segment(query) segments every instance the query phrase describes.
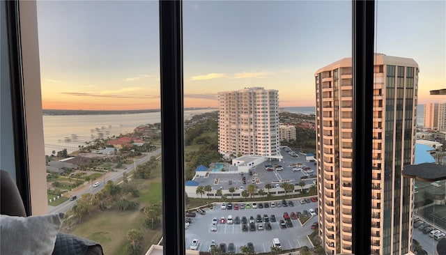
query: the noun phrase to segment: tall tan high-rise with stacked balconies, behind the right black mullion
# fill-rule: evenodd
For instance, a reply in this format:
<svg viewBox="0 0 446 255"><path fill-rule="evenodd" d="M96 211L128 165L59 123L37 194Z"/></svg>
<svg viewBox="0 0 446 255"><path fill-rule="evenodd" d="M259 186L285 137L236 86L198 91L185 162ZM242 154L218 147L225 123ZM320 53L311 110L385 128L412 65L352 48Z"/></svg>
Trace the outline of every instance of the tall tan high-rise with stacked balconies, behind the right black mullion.
<svg viewBox="0 0 446 255"><path fill-rule="evenodd" d="M316 77L319 235L330 254L352 249L352 60L321 68ZM413 164L418 65L413 59L375 55L371 171L371 254L408 254L413 236ZM354 185L354 184L353 184ZM367 231L367 230L364 230Z"/></svg>

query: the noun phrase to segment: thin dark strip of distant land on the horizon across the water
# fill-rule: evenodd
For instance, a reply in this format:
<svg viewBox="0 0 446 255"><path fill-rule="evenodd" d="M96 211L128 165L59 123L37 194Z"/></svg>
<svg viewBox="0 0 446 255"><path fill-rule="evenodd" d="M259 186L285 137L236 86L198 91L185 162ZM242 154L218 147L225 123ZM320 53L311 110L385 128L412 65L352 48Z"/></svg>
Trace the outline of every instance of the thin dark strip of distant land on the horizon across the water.
<svg viewBox="0 0 446 255"><path fill-rule="evenodd" d="M210 109L209 107L189 107L187 110ZM99 114L145 114L148 112L159 112L160 109L140 109L140 110L61 110L43 109L43 115L99 115Z"/></svg>

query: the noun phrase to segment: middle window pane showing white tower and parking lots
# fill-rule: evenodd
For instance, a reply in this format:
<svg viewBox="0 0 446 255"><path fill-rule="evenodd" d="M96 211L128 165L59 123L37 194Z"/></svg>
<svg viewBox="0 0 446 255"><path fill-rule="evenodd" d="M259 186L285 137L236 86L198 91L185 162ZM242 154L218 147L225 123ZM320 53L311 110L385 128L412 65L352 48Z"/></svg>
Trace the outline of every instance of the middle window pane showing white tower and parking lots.
<svg viewBox="0 0 446 255"><path fill-rule="evenodd" d="M209 109L185 121L186 249L351 251L351 2L185 1L183 38L185 107Z"/></svg>

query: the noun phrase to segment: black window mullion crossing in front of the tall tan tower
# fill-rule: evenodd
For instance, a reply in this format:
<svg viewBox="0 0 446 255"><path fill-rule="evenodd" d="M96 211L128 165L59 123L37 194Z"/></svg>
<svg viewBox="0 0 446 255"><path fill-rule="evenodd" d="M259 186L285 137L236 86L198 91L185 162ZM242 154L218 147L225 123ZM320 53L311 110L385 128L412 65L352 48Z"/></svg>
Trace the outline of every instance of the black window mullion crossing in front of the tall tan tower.
<svg viewBox="0 0 446 255"><path fill-rule="evenodd" d="M374 6L353 1L353 254L371 254Z"/></svg>

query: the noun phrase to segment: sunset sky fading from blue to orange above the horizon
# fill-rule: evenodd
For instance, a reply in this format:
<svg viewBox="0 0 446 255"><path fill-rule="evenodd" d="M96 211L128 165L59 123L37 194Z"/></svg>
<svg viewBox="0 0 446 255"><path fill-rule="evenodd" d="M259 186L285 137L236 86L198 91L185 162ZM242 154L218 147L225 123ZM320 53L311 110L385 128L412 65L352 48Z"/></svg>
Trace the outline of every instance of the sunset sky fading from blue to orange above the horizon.
<svg viewBox="0 0 446 255"><path fill-rule="evenodd" d="M37 1L43 109L159 109L157 1ZM446 88L446 1L377 1L376 52L420 66L418 102ZM219 91L314 106L314 72L351 56L351 1L183 1L185 107Z"/></svg>

